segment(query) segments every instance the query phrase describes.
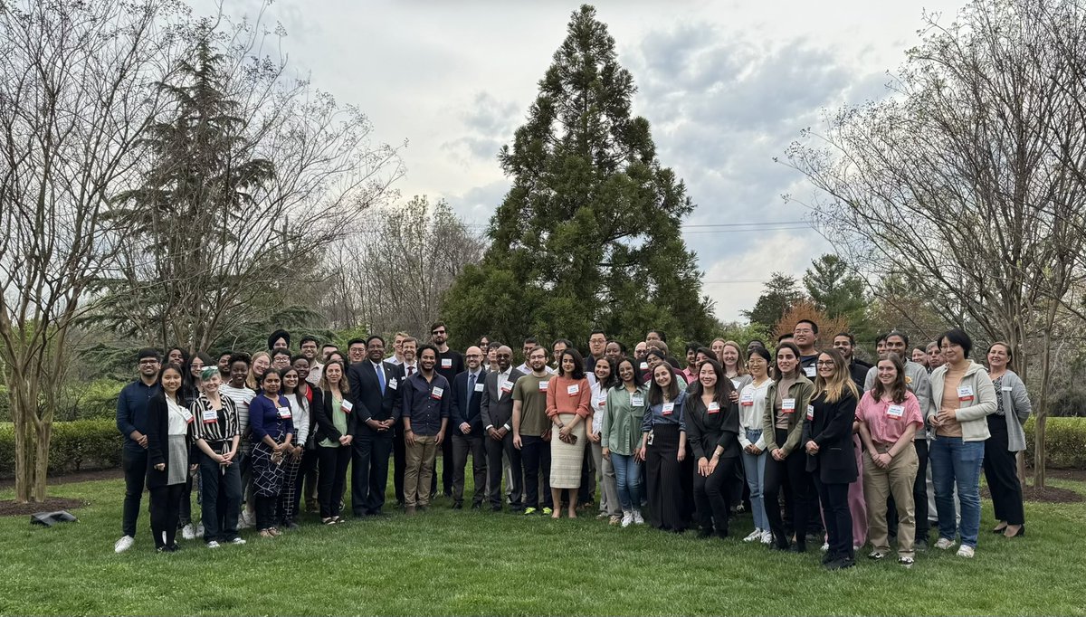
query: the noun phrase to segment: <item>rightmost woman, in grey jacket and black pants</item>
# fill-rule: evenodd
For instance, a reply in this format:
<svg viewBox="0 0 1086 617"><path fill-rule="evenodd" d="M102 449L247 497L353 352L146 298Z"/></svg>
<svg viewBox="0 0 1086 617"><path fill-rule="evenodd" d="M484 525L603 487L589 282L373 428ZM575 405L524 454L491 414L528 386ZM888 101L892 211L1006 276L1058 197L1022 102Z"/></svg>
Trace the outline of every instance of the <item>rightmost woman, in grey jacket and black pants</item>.
<svg viewBox="0 0 1086 617"><path fill-rule="evenodd" d="M996 392L996 413L988 416L984 442L984 478L992 491L992 505L998 521L993 533L1007 538L1025 534L1022 484L1018 478L1016 453L1025 450L1022 425L1033 410L1022 379L1011 370L1011 347L1005 342L988 348L988 377Z"/></svg>

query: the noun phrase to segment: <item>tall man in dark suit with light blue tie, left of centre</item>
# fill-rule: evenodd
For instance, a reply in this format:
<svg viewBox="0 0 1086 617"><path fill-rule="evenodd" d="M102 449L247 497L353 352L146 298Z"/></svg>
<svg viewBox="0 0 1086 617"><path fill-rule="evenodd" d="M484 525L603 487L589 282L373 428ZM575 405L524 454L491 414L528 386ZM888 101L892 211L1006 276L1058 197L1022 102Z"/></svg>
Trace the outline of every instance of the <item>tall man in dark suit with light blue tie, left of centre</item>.
<svg viewBox="0 0 1086 617"><path fill-rule="evenodd" d="M357 426L351 465L351 511L355 516L381 514L389 481L389 454L400 411L392 405L396 368L383 358L384 339L371 336L366 339L366 360L352 364L346 374Z"/></svg>

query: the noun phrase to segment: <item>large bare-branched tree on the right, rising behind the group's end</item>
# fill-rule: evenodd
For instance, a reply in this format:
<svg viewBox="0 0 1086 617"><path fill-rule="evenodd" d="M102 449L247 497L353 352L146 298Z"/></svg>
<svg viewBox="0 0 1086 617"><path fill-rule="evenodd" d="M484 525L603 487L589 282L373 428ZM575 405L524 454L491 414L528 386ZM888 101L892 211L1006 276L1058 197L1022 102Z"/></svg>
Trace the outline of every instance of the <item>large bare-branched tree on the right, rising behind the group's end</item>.
<svg viewBox="0 0 1086 617"><path fill-rule="evenodd" d="M976 324L1019 358L1039 343L1038 486L1052 324L1083 279L1084 32L1066 0L977 0L949 25L927 15L887 99L787 152L849 261L905 274L949 323Z"/></svg>

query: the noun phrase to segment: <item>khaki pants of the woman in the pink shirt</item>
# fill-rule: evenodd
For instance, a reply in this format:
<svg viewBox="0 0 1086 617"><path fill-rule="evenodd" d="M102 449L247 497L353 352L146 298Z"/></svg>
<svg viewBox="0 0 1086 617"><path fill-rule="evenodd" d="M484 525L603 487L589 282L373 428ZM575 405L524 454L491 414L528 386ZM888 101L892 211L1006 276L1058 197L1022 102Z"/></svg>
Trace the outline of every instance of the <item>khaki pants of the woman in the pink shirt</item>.
<svg viewBox="0 0 1086 617"><path fill-rule="evenodd" d="M877 445L879 452L886 452L892 444ZM868 540L880 553L889 552L886 531L886 498L894 495L897 505L897 554L912 557L913 541L917 536L917 520L913 517L912 483L917 479L917 449L905 448L891 459L889 466L880 469L870 453L863 453L863 496L868 504Z"/></svg>

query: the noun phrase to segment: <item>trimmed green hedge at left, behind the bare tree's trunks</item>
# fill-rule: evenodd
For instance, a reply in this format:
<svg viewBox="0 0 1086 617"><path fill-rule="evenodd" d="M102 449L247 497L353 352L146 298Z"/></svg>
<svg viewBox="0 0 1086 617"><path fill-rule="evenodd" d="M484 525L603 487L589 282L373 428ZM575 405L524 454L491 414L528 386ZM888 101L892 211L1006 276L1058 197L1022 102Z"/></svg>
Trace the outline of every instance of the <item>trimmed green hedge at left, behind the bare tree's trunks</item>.
<svg viewBox="0 0 1086 617"><path fill-rule="evenodd" d="M113 419L53 423L49 448L49 475L121 467L124 440ZM15 432L11 424L0 425L0 477L15 475Z"/></svg>

